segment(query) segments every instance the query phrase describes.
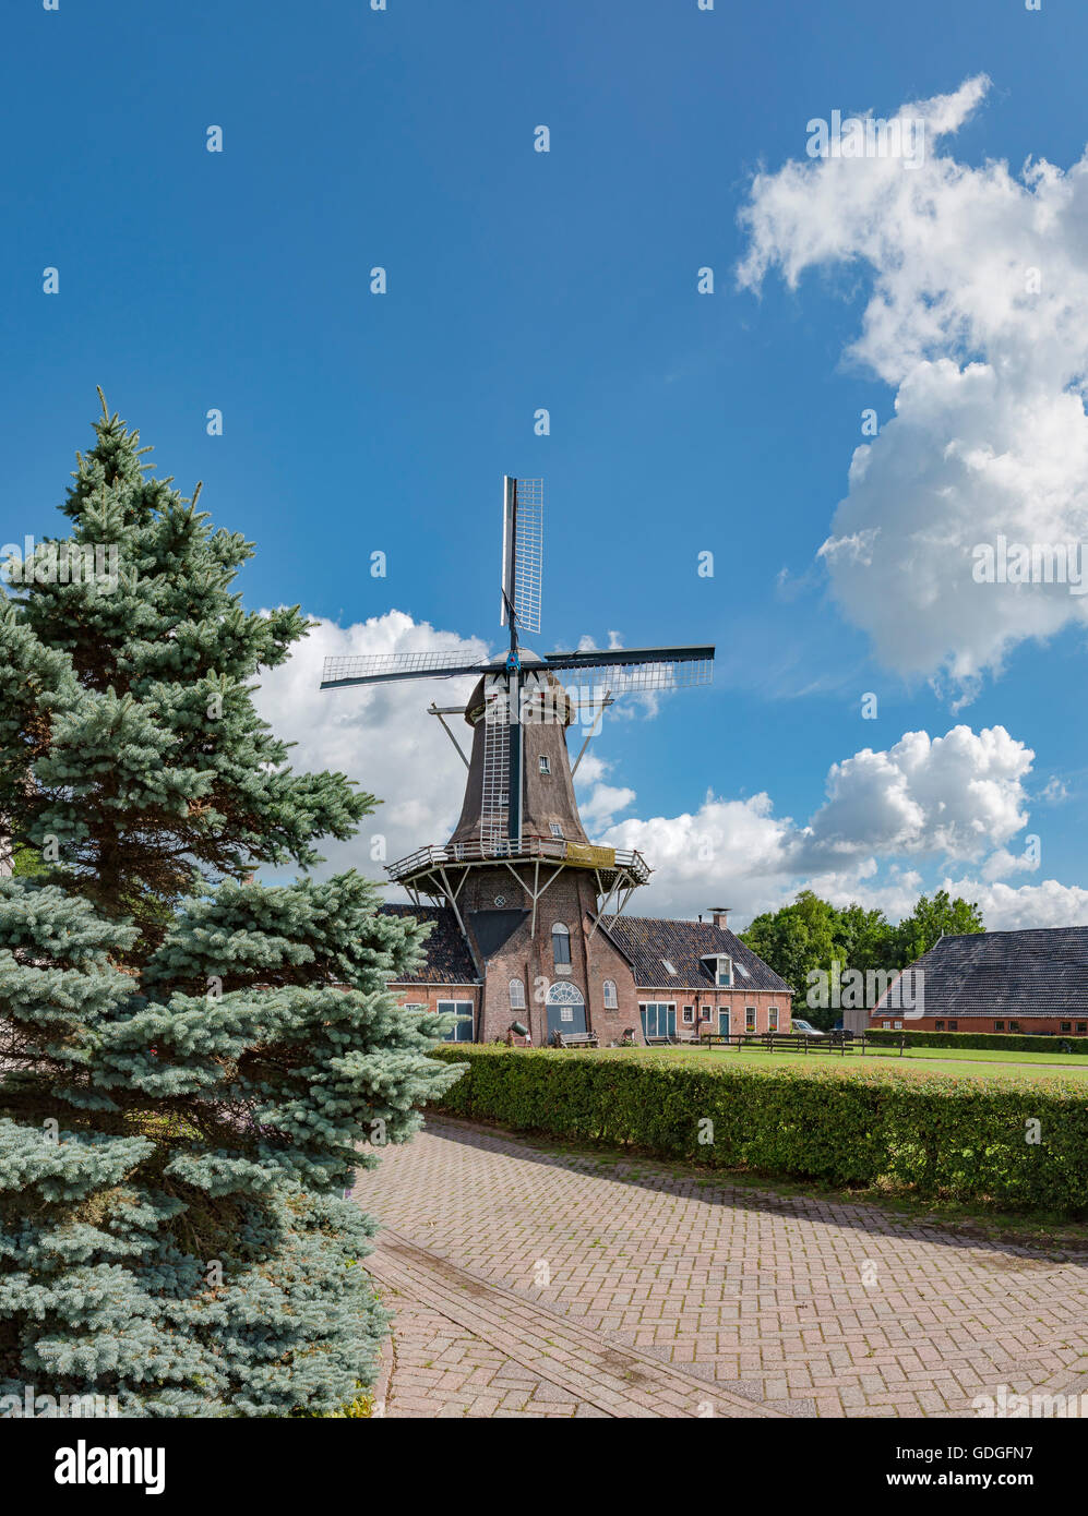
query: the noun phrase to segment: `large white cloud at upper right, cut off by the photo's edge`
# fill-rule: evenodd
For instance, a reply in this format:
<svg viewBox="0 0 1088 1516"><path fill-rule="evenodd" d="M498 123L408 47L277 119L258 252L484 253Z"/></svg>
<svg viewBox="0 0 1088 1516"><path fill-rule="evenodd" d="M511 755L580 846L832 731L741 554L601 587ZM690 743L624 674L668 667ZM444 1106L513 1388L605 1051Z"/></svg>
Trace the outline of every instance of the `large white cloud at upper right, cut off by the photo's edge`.
<svg viewBox="0 0 1088 1516"><path fill-rule="evenodd" d="M819 158L760 173L742 211L742 287L771 270L865 268L847 356L895 390L854 452L821 549L882 662L961 700L1027 638L1088 619L1067 584L976 584L973 549L1088 538L1088 152L1068 170L971 168L944 150L989 88L904 105L926 156ZM874 397L874 405L877 400ZM860 418L859 418L860 426Z"/></svg>

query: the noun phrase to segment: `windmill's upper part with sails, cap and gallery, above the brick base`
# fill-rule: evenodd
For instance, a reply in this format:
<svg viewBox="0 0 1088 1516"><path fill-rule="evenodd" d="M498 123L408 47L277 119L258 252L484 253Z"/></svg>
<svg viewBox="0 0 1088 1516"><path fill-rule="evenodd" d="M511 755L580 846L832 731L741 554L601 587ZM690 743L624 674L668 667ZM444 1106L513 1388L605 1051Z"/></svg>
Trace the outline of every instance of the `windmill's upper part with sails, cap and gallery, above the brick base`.
<svg viewBox="0 0 1088 1516"><path fill-rule="evenodd" d="M467 661L463 653L373 653L328 658L322 690L401 682L404 679L452 679L476 675L467 706L429 706L443 717L463 713L473 729L472 756L446 732L469 770L461 820L443 847L423 847L388 866L387 872L408 891L445 897L457 910L464 870L481 864L510 867L531 863L531 881L522 885L536 902L551 878L540 885L540 864L596 870L599 894L612 901L618 890L643 884L649 876L637 852L593 847L581 826L566 749L566 728L587 706L598 714L575 763L592 737L599 713L616 696L633 691L675 690L709 684L713 647L622 647L607 650L531 652L522 635L540 631L543 578L543 481L502 481L502 568L499 625L508 628L508 647L496 658ZM590 681L586 691L584 681ZM577 687L572 694L571 682ZM589 693L589 700L584 696ZM542 749L539 769L527 773L527 732ZM545 784L543 781L554 781ZM460 875L460 882L455 881ZM517 873L514 875L517 878ZM621 905L622 908L622 905ZM596 919L604 914L604 907ZM460 919L460 911L458 911Z"/></svg>

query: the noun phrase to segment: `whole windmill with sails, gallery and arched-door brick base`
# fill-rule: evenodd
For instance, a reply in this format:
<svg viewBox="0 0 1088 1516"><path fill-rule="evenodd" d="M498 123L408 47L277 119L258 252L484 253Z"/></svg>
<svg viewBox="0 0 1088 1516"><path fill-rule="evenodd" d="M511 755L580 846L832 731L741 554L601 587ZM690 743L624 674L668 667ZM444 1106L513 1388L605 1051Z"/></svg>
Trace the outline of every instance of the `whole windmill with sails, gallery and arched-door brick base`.
<svg viewBox="0 0 1088 1516"><path fill-rule="evenodd" d="M413 902L452 911L481 991L473 1008L480 1041L502 1035L511 1017L534 1043L557 1031L619 1035L634 1025L630 963L601 931L649 878L639 852L596 847L586 835L574 775L605 706L640 690L709 684L713 647L637 647L540 656L522 634L540 631L543 484L502 482L502 599L508 649L487 662L457 653L378 653L329 658L323 690L402 679L480 676L466 706L436 706L467 769L460 820L446 843L387 866ZM446 716L464 716L464 753ZM592 720L586 720L592 716ZM568 728L587 726L571 764Z"/></svg>

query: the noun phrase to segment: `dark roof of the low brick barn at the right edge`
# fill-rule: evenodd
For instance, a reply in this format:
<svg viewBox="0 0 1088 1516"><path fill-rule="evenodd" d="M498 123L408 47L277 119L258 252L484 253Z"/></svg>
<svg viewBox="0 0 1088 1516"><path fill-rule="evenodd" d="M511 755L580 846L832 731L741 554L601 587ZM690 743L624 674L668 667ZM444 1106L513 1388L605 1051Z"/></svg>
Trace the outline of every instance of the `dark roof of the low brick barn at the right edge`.
<svg viewBox="0 0 1088 1516"><path fill-rule="evenodd" d="M942 937L912 969L926 1016L1088 1014L1088 926Z"/></svg>

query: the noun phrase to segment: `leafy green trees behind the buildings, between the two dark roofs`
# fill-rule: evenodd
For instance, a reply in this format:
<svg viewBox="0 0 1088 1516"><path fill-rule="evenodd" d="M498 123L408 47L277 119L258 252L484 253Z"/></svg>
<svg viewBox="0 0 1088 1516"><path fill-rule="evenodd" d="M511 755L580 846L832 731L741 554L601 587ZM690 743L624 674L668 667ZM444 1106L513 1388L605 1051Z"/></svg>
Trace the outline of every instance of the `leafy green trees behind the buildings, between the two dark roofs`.
<svg viewBox="0 0 1088 1516"><path fill-rule="evenodd" d="M839 1011L806 1005L813 970L830 975L833 963L862 973L906 969L942 934L980 931L985 928L979 907L953 901L947 890L938 890L933 899L920 896L913 911L897 925L883 911L866 911L856 904L839 910L812 890L801 890L792 905L757 916L741 940L789 984L794 1014L829 1028Z"/></svg>

